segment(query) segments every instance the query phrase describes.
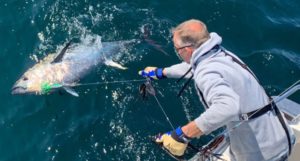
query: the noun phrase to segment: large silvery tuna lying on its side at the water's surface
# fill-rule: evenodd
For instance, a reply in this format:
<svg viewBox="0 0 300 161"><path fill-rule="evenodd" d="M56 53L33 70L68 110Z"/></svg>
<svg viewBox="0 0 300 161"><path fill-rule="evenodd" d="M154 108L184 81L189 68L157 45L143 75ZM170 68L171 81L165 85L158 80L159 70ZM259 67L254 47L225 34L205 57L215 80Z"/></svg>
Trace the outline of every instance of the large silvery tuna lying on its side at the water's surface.
<svg viewBox="0 0 300 161"><path fill-rule="evenodd" d="M126 69L111 58L124 52L132 42L134 41L101 42L100 37L96 37L81 43L66 43L59 53L47 55L28 69L12 87L12 94L44 94L43 86L46 85L64 88L68 93L78 96L70 86L62 85L75 84L100 64Z"/></svg>

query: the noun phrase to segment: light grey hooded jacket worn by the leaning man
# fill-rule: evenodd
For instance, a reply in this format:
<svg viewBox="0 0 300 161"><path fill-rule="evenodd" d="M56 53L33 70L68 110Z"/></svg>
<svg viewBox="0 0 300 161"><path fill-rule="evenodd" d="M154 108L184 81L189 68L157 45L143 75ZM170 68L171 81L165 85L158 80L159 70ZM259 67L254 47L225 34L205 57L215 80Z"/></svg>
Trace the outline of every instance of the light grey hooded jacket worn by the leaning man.
<svg viewBox="0 0 300 161"><path fill-rule="evenodd" d="M221 42L219 35L210 33L210 39L194 51L191 64L180 63L165 68L168 78L178 78L192 67L196 88L202 92L208 105L206 111L195 119L204 134L224 125L231 129L240 123L240 114L261 108L269 100L254 76L231 57L225 56L223 50L209 52ZM226 52L240 60L233 53ZM273 111L231 130L229 138L232 160L277 160L288 153L287 136Z"/></svg>

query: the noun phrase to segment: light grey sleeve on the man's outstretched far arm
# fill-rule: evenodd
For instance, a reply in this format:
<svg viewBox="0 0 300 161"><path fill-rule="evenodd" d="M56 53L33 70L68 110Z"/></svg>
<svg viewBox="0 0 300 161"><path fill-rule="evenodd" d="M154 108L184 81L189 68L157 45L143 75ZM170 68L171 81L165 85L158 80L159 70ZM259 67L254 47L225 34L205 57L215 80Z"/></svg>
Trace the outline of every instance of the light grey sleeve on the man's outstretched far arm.
<svg viewBox="0 0 300 161"><path fill-rule="evenodd" d="M172 65L170 67L166 67L166 77L167 78L180 78L183 76L189 69L190 65L188 63L182 62L179 64ZM185 78L189 78L191 73L187 74Z"/></svg>

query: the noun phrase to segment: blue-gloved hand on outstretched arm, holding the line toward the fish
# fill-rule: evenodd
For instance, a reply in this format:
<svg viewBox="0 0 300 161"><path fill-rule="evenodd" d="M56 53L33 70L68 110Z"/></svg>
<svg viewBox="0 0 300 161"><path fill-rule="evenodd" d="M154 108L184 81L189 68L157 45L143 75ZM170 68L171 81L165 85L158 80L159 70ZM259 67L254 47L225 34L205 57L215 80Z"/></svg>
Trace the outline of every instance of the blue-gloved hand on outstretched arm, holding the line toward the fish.
<svg viewBox="0 0 300 161"><path fill-rule="evenodd" d="M166 78L163 69L157 67L146 67L144 70L139 71L139 75L156 80Z"/></svg>

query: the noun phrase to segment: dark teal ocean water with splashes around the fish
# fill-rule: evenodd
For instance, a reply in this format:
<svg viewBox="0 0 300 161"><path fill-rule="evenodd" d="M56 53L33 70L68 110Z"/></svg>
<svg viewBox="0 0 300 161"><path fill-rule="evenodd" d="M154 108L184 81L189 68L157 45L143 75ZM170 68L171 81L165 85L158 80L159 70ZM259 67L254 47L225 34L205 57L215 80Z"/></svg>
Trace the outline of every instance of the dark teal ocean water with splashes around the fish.
<svg viewBox="0 0 300 161"><path fill-rule="evenodd" d="M139 83L76 88L79 98L15 96L11 87L36 60L87 36L139 43L113 56L128 70L99 66L81 82L140 79L147 65L179 62L170 29L196 18L276 95L300 78L299 8L296 0L0 0L0 161L172 160L150 140L171 128L152 97L141 99ZM143 41L145 34L168 54ZM182 84L154 85L175 126L203 111L192 86L176 98ZM300 102L300 94L291 99Z"/></svg>

